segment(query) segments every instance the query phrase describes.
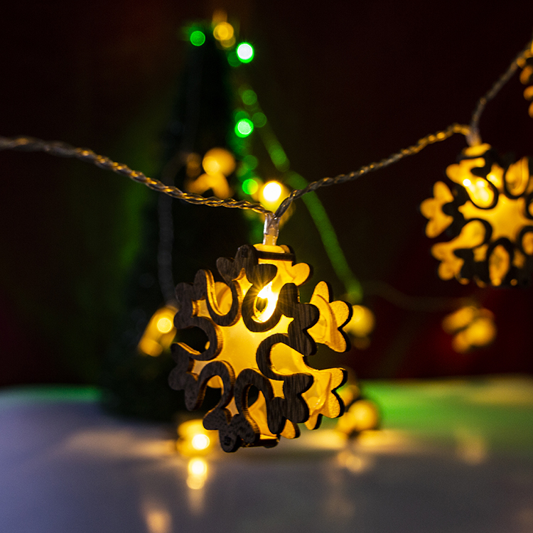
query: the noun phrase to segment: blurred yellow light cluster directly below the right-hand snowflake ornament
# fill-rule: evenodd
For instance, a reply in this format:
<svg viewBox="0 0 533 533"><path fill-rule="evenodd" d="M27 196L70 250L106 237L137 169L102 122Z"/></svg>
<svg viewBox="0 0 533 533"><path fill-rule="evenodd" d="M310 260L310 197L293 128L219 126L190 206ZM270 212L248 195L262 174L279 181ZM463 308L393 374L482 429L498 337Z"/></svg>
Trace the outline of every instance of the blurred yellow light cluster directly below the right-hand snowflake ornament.
<svg viewBox="0 0 533 533"><path fill-rule="evenodd" d="M494 315L475 306L465 306L446 316L442 327L453 335L452 348L459 353L492 343L497 333Z"/></svg>

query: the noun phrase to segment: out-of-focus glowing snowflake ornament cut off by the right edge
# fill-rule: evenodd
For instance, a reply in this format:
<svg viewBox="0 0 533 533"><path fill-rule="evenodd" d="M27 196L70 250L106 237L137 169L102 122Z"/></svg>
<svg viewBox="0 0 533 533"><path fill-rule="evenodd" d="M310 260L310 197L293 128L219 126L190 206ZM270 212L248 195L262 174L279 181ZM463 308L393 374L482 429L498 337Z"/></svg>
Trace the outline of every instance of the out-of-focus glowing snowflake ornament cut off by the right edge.
<svg viewBox="0 0 533 533"><path fill-rule="evenodd" d="M500 158L488 144L463 150L446 175L457 185L434 185L421 203L428 237L448 230L451 240L431 253L441 279L479 286L527 284L533 271L533 164Z"/></svg>

